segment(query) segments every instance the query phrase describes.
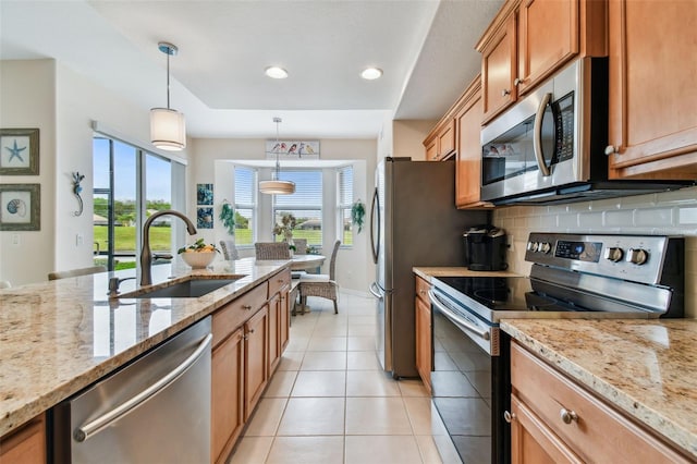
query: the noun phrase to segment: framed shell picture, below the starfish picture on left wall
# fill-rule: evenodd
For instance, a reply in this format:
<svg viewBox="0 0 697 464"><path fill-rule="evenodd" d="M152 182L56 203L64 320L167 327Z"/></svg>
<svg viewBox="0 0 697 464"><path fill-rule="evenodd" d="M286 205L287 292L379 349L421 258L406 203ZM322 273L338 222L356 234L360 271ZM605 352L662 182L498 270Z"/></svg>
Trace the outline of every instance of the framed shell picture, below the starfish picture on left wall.
<svg viewBox="0 0 697 464"><path fill-rule="evenodd" d="M40 192L40 184L0 184L0 231L41 230Z"/></svg>

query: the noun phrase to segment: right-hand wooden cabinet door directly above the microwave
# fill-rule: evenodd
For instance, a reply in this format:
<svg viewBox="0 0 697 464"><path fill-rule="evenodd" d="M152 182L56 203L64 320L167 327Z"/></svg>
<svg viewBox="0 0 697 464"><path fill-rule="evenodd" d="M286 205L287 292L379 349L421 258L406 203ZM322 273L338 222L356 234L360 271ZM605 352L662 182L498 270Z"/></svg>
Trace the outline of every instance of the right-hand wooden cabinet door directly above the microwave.
<svg viewBox="0 0 697 464"><path fill-rule="evenodd" d="M517 46L519 95L578 53L578 0L524 0Z"/></svg>

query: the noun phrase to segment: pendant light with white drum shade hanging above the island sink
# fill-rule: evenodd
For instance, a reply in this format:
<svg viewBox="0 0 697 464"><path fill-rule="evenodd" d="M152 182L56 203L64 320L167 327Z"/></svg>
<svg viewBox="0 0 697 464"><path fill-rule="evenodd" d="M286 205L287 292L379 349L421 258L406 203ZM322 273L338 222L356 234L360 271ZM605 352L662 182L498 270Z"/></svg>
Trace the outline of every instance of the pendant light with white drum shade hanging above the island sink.
<svg viewBox="0 0 697 464"><path fill-rule="evenodd" d="M167 108L150 110L150 141L162 150L179 151L186 148L186 121L183 113L170 108L170 57L179 49L166 41L159 42L157 48L167 54Z"/></svg>

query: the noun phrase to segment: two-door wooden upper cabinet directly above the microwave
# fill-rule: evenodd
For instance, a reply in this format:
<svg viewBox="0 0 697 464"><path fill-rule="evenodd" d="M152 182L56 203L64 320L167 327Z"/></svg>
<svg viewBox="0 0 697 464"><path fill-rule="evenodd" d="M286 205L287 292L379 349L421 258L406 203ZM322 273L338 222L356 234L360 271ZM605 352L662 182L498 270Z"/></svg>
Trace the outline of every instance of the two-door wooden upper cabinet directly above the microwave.
<svg viewBox="0 0 697 464"><path fill-rule="evenodd" d="M576 56L607 56L603 0L506 2L477 44L486 123Z"/></svg>

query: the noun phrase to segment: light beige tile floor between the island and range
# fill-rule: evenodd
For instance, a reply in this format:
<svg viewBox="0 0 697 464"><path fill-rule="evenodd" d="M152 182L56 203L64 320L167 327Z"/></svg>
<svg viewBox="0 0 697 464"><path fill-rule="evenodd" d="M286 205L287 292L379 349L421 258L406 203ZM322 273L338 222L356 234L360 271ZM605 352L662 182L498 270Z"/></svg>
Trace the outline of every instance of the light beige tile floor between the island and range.
<svg viewBox="0 0 697 464"><path fill-rule="evenodd" d="M394 380L375 351L375 300L310 297L231 464L457 463L420 380ZM454 453L454 451L453 451Z"/></svg>

